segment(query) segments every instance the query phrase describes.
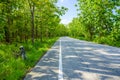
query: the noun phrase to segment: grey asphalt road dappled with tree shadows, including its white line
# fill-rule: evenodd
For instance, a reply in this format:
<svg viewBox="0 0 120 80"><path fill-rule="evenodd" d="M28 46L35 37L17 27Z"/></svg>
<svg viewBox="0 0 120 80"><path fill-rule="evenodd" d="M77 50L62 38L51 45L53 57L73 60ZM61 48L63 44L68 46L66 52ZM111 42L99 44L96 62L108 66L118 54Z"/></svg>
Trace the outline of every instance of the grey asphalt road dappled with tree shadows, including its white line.
<svg viewBox="0 0 120 80"><path fill-rule="evenodd" d="M24 80L120 80L120 48L61 37Z"/></svg>

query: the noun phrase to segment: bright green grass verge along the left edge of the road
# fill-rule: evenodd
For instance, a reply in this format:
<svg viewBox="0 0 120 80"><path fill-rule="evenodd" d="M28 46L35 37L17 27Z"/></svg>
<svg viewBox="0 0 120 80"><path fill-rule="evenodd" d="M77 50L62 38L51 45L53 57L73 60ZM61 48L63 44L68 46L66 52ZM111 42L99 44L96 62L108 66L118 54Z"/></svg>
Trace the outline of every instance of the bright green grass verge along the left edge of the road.
<svg viewBox="0 0 120 80"><path fill-rule="evenodd" d="M34 45L31 42L0 44L0 80L22 80L56 40L45 39L42 43L36 40ZM18 56L21 45L25 47L27 60Z"/></svg>

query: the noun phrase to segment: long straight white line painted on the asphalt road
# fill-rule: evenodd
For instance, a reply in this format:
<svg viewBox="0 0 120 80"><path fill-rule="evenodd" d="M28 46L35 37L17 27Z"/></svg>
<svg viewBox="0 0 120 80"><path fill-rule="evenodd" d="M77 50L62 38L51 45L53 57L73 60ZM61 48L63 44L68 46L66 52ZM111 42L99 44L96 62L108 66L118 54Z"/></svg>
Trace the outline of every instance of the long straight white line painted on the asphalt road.
<svg viewBox="0 0 120 80"><path fill-rule="evenodd" d="M59 75L58 75L58 80L63 80L61 40L60 40L60 51L59 51Z"/></svg>

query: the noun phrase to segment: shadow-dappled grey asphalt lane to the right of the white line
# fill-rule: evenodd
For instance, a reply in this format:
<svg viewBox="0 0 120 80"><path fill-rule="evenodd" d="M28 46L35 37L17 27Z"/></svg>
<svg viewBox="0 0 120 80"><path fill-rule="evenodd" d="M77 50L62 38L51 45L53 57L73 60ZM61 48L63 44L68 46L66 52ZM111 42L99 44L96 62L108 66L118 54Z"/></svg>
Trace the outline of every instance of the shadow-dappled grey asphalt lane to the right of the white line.
<svg viewBox="0 0 120 80"><path fill-rule="evenodd" d="M120 48L76 40L63 41L62 52L67 80L120 80Z"/></svg>

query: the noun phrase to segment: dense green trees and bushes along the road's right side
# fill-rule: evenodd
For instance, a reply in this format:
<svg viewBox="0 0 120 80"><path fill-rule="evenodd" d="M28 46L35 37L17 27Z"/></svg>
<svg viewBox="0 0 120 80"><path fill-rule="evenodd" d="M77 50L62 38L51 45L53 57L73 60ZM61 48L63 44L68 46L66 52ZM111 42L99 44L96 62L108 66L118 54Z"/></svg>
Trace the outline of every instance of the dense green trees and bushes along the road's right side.
<svg viewBox="0 0 120 80"><path fill-rule="evenodd" d="M120 0L78 0L69 36L120 47Z"/></svg>

